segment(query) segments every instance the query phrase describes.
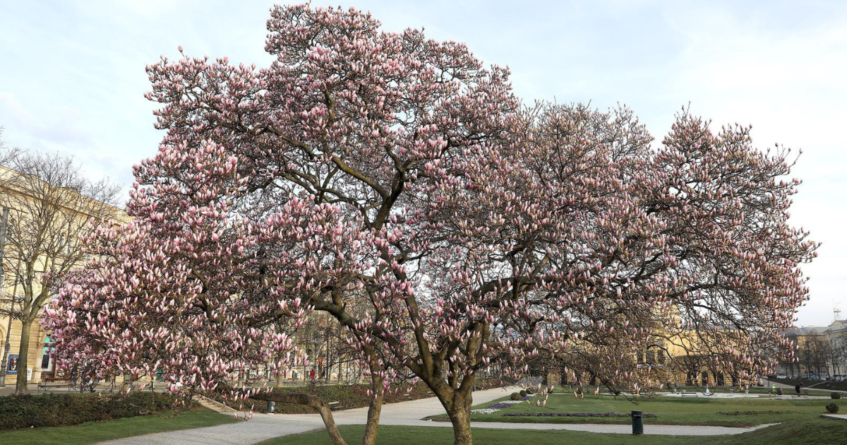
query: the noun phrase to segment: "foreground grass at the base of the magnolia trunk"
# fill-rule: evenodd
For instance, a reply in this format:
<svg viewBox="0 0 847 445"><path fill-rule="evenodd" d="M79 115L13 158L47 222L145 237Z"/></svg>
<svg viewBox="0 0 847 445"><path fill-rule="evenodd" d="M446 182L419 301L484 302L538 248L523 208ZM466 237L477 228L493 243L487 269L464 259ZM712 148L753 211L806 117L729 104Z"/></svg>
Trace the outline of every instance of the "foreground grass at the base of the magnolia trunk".
<svg viewBox="0 0 847 445"><path fill-rule="evenodd" d="M645 426L645 429L649 426ZM347 443L362 440L364 426L341 426ZM792 420L734 436L632 436L628 434L599 434L581 431L529 431L529 430L473 430L474 445L505 445L531 443L532 445L820 445L844 440L847 422L821 417ZM451 445L451 428L432 426L380 426L378 445ZM311 432L278 437L263 445L331 445L326 432Z"/></svg>

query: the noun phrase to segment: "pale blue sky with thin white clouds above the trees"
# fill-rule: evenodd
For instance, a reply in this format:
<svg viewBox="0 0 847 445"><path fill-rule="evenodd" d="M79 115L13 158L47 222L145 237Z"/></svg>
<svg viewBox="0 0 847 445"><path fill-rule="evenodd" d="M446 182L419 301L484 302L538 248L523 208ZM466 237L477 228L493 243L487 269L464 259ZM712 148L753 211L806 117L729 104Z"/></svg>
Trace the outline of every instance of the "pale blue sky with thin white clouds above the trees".
<svg viewBox="0 0 847 445"><path fill-rule="evenodd" d="M276 2L280 3L280 2ZM265 66L274 2L0 0L3 141L58 151L92 179L129 188L151 157L147 64L161 55L228 56ZM791 220L822 242L805 264L811 298L797 325L847 318L847 2L362 1L388 31L423 27L508 66L524 102L632 108L661 142L683 107L721 125L752 125L764 150L802 154Z"/></svg>

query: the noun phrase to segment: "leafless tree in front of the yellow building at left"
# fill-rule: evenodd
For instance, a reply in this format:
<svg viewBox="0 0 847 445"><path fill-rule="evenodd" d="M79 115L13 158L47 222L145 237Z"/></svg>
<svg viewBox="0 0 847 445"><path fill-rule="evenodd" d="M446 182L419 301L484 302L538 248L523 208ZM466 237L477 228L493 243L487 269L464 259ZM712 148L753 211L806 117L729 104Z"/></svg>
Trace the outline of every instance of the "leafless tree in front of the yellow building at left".
<svg viewBox="0 0 847 445"><path fill-rule="evenodd" d="M3 278L14 289L14 295L3 294L0 313L21 323L18 360L25 369L30 329L54 295L52 283L82 263L80 238L91 231L91 220L120 217L120 187L88 180L73 159L58 153L2 147L0 160L0 206L8 209ZM27 392L25 378L18 378L15 392Z"/></svg>

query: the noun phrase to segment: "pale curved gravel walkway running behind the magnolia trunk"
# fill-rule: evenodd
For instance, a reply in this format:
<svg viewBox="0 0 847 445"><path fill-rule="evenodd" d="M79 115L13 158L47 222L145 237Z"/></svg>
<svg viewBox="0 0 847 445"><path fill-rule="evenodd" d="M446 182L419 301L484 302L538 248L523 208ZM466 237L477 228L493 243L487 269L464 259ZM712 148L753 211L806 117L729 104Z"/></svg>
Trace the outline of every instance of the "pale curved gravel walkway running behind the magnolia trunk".
<svg viewBox="0 0 847 445"><path fill-rule="evenodd" d="M473 392L473 403L485 403L507 396L511 390L502 388ZM362 425L365 423L368 409L348 409L333 413L338 425ZM443 414L438 399L424 398L410 402L390 403L383 406L380 425L436 426L450 427L449 422L420 420L429 415ZM222 414L223 415L223 414ZM231 415L231 414L230 414ZM570 430L606 433L632 432L629 425L600 424L521 424L507 422L473 422L473 428L500 428L510 430ZM767 425L753 428L728 428L723 426L672 426L645 425L645 434L673 436L717 436L739 434L753 431ZM318 414L256 414L252 420L235 424L209 426L192 430L159 432L145 436L125 437L108 442L108 445L252 445L256 442L324 429L324 423Z"/></svg>

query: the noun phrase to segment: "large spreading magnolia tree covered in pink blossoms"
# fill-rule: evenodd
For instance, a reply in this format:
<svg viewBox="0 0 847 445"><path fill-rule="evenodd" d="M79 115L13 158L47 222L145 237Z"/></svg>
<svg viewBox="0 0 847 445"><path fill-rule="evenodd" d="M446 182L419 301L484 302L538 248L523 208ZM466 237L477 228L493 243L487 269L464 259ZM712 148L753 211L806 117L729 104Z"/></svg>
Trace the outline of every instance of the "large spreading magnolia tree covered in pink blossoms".
<svg viewBox="0 0 847 445"><path fill-rule="evenodd" d="M686 330L767 364L815 248L787 224L785 153L687 114L654 149L626 109L527 110L507 70L356 10L277 7L268 31L268 68L148 67L168 133L136 167L135 221L91 238L102 256L53 306L66 357L232 391L323 311L371 378L364 442L411 375L457 444L492 364L650 387L634 353Z"/></svg>

